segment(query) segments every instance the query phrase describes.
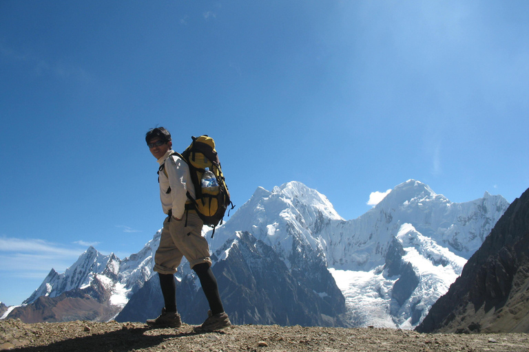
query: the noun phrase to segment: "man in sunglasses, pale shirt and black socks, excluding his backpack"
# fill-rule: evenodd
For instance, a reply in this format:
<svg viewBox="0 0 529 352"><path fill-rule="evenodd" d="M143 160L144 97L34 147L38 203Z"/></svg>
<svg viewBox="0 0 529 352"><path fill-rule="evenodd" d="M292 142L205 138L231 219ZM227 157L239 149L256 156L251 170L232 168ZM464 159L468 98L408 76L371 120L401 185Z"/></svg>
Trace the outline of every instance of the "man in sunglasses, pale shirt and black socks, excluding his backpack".
<svg viewBox="0 0 529 352"><path fill-rule="evenodd" d="M147 320L152 327L180 327L182 320L176 310L176 283L174 273L185 256L200 279L209 303L208 318L200 329L214 331L231 326L222 307L217 280L211 272L209 245L202 236L203 221L193 210L193 202L187 192L195 198L195 188L189 174L189 166L172 150L171 134L163 127L151 129L145 135L149 150L158 160L158 182L160 200L167 218L163 222L160 246L154 255L154 271L158 272L165 307L156 319ZM165 168L165 170L164 170Z"/></svg>

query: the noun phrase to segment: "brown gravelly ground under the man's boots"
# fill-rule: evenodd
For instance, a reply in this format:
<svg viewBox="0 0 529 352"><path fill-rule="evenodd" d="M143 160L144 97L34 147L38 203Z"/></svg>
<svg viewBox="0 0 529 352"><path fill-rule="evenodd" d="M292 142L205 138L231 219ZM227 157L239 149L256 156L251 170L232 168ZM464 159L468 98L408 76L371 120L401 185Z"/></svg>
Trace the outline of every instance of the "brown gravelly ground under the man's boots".
<svg viewBox="0 0 529 352"><path fill-rule="evenodd" d="M424 334L396 329L236 325L195 333L142 323L0 320L0 351L529 351L529 334Z"/></svg>

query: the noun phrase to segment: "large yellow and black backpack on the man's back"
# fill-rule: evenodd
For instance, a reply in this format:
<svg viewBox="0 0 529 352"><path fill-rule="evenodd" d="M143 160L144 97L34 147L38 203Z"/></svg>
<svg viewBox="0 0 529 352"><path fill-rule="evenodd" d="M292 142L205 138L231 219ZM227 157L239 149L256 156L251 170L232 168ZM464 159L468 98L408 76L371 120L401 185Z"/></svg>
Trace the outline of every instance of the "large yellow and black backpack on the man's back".
<svg viewBox="0 0 529 352"><path fill-rule="evenodd" d="M228 186L226 186L226 181L220 168L218 154L215 150L215 141L208 135L200 135L200 137L193 136L191 139L193 142L189 144L183 153L175 153L189 166L191 181L193 181L195 187L196 199L191 197L189 192L187 192L189 201L186 203L186 209L196 210L198 217L202 219L204 225L213 228L213 232L211 233L211 238L213 238L216 226L219 223L222 224L226 209L231 205L230 210L232 210L235 208L235 205L229 197ZM218 189L216 191L203 189L200 185L200 179L202 179L206 168L209 168L217 179ZM167 175L165 168L163 170L165 175ZM167 192L171 192L171 188Z"/></svg>

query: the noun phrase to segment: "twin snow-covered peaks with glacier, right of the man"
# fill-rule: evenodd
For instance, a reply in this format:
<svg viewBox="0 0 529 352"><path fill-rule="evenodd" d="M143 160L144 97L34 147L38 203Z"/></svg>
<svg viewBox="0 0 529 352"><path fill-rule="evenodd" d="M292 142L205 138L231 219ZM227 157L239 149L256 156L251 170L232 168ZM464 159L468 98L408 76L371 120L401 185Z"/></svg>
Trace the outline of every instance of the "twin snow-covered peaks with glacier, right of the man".
<svg viewBox="0 0 529 352"><path fill-rule="evenodd" d="M461 274L466 259L484 241L508 207L501 196L452 203L410 179L396 186L375 208L344 221L331 203L299 182L271 192L258 188L222 228L211 248L251 232L291 265L300 248L311 248L330 268L352 313L353 325L411 328ZM388 273L386 256L397 239L407 271ZM409 265L407 265L409 263ZM411 271L410 271L411 270ZM402 274L415 276L413 290L393 297ZM412 283L414 281L411 281Z"/></svg>

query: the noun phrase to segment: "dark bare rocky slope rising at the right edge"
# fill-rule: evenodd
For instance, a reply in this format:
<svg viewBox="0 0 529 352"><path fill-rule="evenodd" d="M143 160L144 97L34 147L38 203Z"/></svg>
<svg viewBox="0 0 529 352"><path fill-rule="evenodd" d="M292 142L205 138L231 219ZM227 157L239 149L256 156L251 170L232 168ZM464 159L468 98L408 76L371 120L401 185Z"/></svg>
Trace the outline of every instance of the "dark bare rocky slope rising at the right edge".
<svg viewBox="0 0 529 352"><path fill-rule="evenodd" d="M419 332L529 332L529 189L515 199Z"/></svg>

